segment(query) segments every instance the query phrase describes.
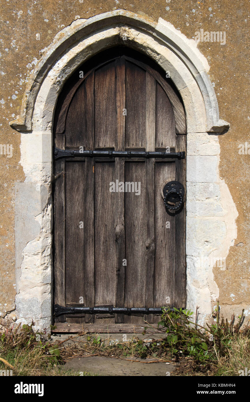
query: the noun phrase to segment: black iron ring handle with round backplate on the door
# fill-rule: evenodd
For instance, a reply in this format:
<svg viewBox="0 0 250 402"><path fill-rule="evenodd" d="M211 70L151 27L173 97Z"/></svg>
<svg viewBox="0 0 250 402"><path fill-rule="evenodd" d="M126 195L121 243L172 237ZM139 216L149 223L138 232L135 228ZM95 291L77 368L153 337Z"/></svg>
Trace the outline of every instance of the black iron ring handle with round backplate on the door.
<svg viewBox="0 0 250 402"><path fill-rule="evenodd" d="M183 205L184 187L179 181L170 181L163 188L164 204L169 211L179 211Z"/></svg>

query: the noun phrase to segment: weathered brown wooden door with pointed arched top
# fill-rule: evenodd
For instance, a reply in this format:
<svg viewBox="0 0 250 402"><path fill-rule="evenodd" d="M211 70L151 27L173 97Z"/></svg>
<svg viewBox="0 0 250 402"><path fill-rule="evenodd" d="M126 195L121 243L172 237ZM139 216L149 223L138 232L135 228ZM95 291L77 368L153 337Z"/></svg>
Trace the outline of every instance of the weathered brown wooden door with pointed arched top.
<svg viewBox="0 0 250 402"><path fill-rule="evenodd" d="M54 124L54 147L70 151L54 155L56 321L158 322L147 310L82 308L185 305L185 204L169 213L162 197L169 181L185 187L185 159L81 155L185 151L185 133L178 94L140 53L100 53L65 84Z"/></svg>

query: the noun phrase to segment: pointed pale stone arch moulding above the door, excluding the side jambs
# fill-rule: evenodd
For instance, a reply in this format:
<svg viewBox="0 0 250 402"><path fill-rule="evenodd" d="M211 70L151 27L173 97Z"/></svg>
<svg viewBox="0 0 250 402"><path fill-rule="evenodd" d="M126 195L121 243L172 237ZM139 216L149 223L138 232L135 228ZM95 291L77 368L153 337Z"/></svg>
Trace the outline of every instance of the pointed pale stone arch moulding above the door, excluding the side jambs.
<svg viewBox="0 0 250 402"><path fill-rule="evenodd" d="M46 103L53 104L65 78L81 64L80 60L87 60L100 49L121 41L143 51L169 71L183 98L188 131L222 132L229 127L219 118L217 99L207 75L209 66L195 41L187 39L162 18L155 23L126 10L99 14L87 20L78 19L56 35L30 77L21 115L10 122L11 127L17 131L32 130L35 105L45 82L47 86L51 85L44 102L46 110ZM57 76L54 81L53 76ZM189 110L190 104L192 111ZM44 115L43 119L47 120L47 127L51 114L48 113L47 119Z"/></svg>

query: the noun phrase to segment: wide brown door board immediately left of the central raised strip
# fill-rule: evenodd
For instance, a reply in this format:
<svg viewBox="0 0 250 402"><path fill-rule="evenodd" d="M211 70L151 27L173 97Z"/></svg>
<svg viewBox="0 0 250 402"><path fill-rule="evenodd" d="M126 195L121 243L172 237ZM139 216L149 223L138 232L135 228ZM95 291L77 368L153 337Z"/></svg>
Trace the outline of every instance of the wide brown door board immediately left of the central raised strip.
<svg viewBox="0 0 250 402"><path fill-rule="evenodd" d="M116 146L116 64L95 73L95 146ZM114 305L116 298L116 216L120 193L110 192L116 179L113 162L95 164L95 304ZM106 322L114 322L114 318Z"/></svg>

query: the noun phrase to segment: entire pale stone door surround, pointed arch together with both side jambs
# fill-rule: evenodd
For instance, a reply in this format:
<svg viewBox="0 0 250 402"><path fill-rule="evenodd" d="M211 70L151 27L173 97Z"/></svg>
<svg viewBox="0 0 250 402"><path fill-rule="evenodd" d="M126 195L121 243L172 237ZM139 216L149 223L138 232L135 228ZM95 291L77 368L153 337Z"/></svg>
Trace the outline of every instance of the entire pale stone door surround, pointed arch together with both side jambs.
<svg viewBox="0 0 250 402"><path fill-rule="evenodd" d="M226 258L236 238L238 213L218 174L217 134L228 130L229 123L219 118L207 74L209 66L195 41L162 18L155 23L126 10L78 19L60 31L45 49L27 85L20 117L10 121L11 127L21 133L20 163L26 175L25 182L18 185L17 198L20 194L27 197L27 191L35 197L35 206L31 203L26 208L28 219L32 219L25 242L16 242L17 316L22 322L33 318L40 329L51 322L55 106L63 84L78 66L101 50L121 43L145 53L168 71L183 100L187 121L187 306L200 306L201 322L211 314L219 294L213 265L206 258ZM21 201L17 199L17 205ZM19 215L17 210L17 229L18 219L25 219ZM16 235L20 238L18 232Z"/></svg>

